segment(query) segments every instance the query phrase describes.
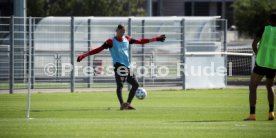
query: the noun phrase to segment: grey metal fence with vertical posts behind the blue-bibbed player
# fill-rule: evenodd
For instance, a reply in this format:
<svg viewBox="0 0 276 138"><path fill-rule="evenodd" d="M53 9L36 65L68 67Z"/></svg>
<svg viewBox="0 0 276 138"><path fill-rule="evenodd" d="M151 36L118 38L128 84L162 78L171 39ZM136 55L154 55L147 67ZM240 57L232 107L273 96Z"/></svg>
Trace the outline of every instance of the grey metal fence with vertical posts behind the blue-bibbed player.
<svg viewBox="0 0 276 138"><path fill-rule="evenodd" d="M164 43L130 47L134 72L142 74L137 76L141 86L187 89L226 85L226 72L222 77L191 77L179 72L196 63L208 66L216 62L219 64L214 66L227 67L227 57L216 54L226 52L227 22L218 17L0 17L0 21L0 89L10 93L27 88L28 82L32 89L65 88L71 92L115 87L108 50L80 63L76 58L112 38L119 23L127 26L126 34L132 38L167 36Z"/></svg>

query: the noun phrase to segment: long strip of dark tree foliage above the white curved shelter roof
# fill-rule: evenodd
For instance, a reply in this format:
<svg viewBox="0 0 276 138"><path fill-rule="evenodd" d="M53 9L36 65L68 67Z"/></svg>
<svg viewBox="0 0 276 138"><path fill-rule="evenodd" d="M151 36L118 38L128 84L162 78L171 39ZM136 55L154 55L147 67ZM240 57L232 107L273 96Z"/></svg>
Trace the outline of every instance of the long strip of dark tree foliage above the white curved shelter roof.
<svg viewBox="0 0 276 138"><path fill-rule="evenodd" d="M28 0L28 16L142 16L144 0Z"/></svg>

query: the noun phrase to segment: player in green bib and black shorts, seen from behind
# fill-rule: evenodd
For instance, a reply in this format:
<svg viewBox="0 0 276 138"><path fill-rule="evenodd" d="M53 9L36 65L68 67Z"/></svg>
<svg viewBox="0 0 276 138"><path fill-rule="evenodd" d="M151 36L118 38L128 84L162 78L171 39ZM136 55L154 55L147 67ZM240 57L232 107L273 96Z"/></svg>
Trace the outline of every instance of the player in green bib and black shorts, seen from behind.
<svg viewBox="0 0 276 138"><path fill-rule="evenodd" d="M259 47L257 47L259 43ZM252 48L256 56L256 63L251 74L249 85L250 115L244 120L256 120L257 87L266 76L267 98L269 103L268 120L274 120L274 90L273 83L276 73L276 13L269 16L269 25L261 29Z"/></svg>

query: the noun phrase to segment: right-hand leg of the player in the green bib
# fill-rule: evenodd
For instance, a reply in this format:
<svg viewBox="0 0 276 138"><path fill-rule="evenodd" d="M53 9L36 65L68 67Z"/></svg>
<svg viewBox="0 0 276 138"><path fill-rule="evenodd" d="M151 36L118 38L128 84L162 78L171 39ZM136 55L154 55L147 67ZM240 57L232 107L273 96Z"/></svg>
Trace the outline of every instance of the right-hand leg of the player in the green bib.
<svg viewBox="0 0 276 138"><path fill-rule="evenodd" d="M266 75L266 89L267 89L267 99L269 103L269 113L268 113L268 120L274 120L274 77L275 73L271 72L270 75Z"/></svg>

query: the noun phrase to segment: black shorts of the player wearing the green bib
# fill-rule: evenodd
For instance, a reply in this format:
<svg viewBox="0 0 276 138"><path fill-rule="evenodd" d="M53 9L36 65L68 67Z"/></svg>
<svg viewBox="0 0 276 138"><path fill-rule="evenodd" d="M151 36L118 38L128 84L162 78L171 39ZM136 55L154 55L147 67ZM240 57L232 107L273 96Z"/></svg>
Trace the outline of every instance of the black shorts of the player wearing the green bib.
<svg viewBox="0 0 276 138"><path fill-rule="evenodd" d="M253 69L253 72L258 74L258 75L265 76L268 79L273 79L275 77L275 74L276 74L276 69L261 67L261 66L259 66L255 63L255 67Z"/></svg>

